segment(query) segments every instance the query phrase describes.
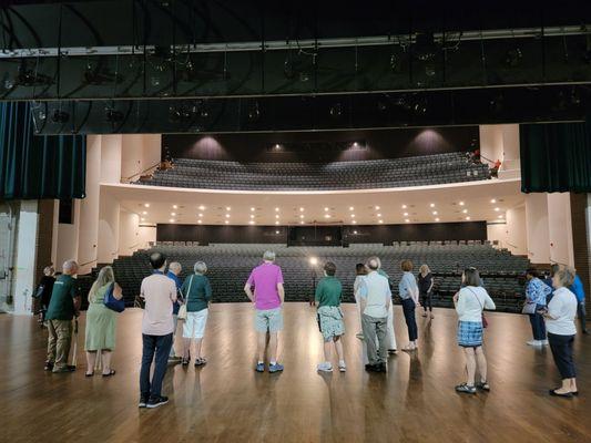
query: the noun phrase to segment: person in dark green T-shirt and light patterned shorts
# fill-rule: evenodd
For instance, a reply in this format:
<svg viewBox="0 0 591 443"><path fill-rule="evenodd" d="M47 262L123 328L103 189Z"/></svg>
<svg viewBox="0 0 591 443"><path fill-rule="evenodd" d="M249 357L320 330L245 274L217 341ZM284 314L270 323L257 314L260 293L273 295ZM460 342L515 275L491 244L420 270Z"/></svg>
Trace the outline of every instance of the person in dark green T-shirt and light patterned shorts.
<svg viewBox="0 0 591 443"><path fill-rule="evenodd" d="M318 327L324 339L324 358L325 361L318 364L318 371L333 372L332 346L338 356L338 369L340 372L347 370L343 357L343 343L340 336L345 333L345 322L343 321L343 311L340 310L340 299L343 297L343 286L338 278L335 277L337 267L334 262L327 261L324 265L324 275L316 287L316 302L318 305Z"/></svg>

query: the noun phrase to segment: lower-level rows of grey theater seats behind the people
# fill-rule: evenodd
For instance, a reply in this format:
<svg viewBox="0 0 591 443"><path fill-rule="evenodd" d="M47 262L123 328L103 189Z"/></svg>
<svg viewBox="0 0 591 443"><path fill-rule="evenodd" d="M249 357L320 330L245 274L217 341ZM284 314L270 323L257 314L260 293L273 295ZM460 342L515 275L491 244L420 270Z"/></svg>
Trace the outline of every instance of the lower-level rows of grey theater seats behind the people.
<svg viewBox="0 0 591 443"><path fill-rule="evenodd" d="M353 282L355 265L369 256L381 258L383 268L390 276L393 293L398 293L401 276L399 262L409 258L415 262L415 274L421 264L427 264L436 276L435 305L452 306L451 297L460 286L461 270L477 267L485 286L501 311L518 311L523 300L522 276L528 268L526 258L512 256L507 250L495 249L490 244L456 241L404 243L394 246L350 245L342 247L287 247L285 245L221 245L182 246L182 244L156 245L132 257L114 261L118 281L123 287L128 305L132 305L140 291L141 280L151 274L147 257L152 250L164 253L169 260L180 261L182 277L192 271L196 260L207 264L207 277L212 282L216 302L247 301L244 284L252 268L257 266L267 249L277 255L276 262L283 268L287 301L306 301L313 293L315 281L323 275L322 262L332 260L337 266L337 277L343 281L344 301L354 301ZM309 258L318 258L313 268ZM96 270L94 271L94 274Z"/></svg>

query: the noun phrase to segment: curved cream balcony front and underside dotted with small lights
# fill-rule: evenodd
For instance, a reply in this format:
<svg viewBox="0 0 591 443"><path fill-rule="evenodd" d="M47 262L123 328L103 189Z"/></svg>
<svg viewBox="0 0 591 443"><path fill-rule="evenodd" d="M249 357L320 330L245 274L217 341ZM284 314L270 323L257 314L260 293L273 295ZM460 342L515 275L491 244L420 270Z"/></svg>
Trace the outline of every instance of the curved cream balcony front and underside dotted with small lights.
<svg viewBox="0 0 591 443"><path fill-rule="evenodd" d="M143 225L196 225L198 220L203 225L259 226L502 222L507 209L524 202L519 179L305 193L101 186L119 199L124 209L139 214Z"/></svg>

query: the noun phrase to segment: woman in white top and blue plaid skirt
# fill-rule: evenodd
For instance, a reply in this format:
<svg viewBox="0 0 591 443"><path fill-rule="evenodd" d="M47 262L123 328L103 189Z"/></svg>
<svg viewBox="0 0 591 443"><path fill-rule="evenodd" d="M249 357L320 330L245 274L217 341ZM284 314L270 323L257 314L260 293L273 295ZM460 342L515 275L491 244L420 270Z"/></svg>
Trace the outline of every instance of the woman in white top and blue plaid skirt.
<svg viewBox="0 0 591 443"><path fill-rule="evenodd" d="M458 344L463 348L466 357L466 383L456 387L457 392L476 394L476 388L490 391L487 382L487 359L482 350L482 311L496 309L487 290L480 286L480 276L476 268L467 268L461 276L463 287L454 296L458 313ZM475 384L476 367L480 372L480 382Z"/></svg>

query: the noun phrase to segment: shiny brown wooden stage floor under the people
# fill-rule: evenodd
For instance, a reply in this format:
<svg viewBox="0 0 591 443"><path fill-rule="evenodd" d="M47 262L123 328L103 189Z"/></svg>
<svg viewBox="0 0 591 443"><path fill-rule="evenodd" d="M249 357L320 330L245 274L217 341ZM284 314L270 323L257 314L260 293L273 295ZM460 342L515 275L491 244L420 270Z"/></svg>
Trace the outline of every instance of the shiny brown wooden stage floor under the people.
<svg viewBox="0 0 591 443"><path fill-rule="evenodd" d="M139 410L141 317L119 318L115 377L84 378L83 323L79 369L43 372L45 330L30 317L0 316L2 442L590 442L591 337L575 343L578 399L556 399L559 378L549 349L526 346L526 317L490 315L486 337L490 393L457 394L462 358L456 315L418 317L419 351L389 359L387 374L361 364L355 306L344 307L346 373L318 374L322 340L314 309L287 303L281 336L285 372L255 373L252 307L214 305L204 353L208 363L169 369L171 402ZM398 346L407 334L396 307ZM203 440L202 440L203 439Z"/></svg>

